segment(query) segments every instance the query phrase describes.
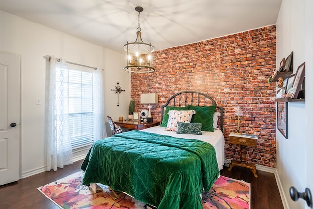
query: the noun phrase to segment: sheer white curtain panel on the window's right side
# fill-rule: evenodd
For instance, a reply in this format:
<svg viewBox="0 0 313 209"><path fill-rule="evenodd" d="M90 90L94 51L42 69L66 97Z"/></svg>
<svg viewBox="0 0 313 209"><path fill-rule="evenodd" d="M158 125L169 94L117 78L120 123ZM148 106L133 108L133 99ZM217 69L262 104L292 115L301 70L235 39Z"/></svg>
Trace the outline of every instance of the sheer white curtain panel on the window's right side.
<svg viewBox="0 0 313 209"><path fill-rule="evenodd" d="M107 137L104 120L103 77L100 70L93 70L93 140Z"/></svg>

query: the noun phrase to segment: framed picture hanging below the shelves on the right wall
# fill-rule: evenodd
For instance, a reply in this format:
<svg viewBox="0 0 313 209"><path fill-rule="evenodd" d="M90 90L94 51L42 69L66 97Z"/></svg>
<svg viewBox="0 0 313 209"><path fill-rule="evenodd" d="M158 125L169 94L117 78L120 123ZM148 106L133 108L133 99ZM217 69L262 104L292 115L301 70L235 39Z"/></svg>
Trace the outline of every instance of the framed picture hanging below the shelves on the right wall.
<svg viewBox="0 0 313 209"><path fill-rule="evenodd" d="M277 129L288 139L288 103L287 102L276 102L277 103Z"/></svg>

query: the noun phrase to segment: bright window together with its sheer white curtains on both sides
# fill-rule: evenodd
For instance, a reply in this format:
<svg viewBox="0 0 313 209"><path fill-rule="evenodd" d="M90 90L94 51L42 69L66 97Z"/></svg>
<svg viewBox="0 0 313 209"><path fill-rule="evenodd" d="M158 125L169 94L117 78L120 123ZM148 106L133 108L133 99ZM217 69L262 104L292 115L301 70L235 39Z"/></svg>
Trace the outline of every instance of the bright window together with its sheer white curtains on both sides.
<svg viewBox="0 0 313 209"><path fill-rule="evenodd" d="M45 95L47 171L73 163L74 152L85 151L93 142L107 137L102 71L67 63L53 55L48 58Z"/></svg>

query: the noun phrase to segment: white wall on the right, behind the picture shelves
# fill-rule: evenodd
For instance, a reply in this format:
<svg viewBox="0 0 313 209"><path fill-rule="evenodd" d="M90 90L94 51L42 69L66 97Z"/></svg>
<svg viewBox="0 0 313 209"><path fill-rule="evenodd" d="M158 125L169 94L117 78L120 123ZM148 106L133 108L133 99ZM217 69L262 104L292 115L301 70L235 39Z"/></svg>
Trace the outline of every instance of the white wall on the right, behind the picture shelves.
<svg viewBox="0 0 313 209"><path fill-rule="evenodd" d="M310 89L312 90L312 52L307 54L313 47L312 41L306 42L306 37L312 39L312 30L308 32L308 25L313 24L313 19L306 19L306 12L312 13L312 9L307 9L309 1L305 0L283 0L276 24L277 33L277 54L276 67L282 58L286 58L293 51L293 72L300 64L306 62L306 101L288 103L288 139L276 129L277 138L277 160L276 179L282 194L285 208L304 208L305 202L299 200L294 202L289 196L289 188L296 187L299 192L306 188L306 165L309 159L306 155L306 138L310 133L312 136L312 126L308 121L312 120L312 111L308 107L313 107L310 99ZM312 7L312 4L311 4ZM312 17L312 16L311 16ZM308 50L309 49L309 50ZM309 55L309 56L308 56ZM311 87L311 88L310 88ZM312 95L312 94L311 94ZM312 124L312 123L311 123ZM312 152L312 147L311 147ZM310 159L312 161L312 159Z"/></svg>

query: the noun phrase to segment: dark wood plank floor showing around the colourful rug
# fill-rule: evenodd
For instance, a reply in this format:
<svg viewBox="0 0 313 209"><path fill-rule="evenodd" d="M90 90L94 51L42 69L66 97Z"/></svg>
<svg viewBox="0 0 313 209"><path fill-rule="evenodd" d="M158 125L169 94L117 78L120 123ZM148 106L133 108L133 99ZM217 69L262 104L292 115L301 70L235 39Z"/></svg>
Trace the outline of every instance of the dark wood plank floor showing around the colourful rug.
<svg viewBox="0 0 313 209"><path fill-rule="evenodd" d="M80 170L82 161L57 171L43 172L18 182L0 187L0 209L59 209L37 188ZM275 176L258 171L255 178L250 170L234 167L220 172L221 175L251 183L251 209L283 209Z"/></svg>

